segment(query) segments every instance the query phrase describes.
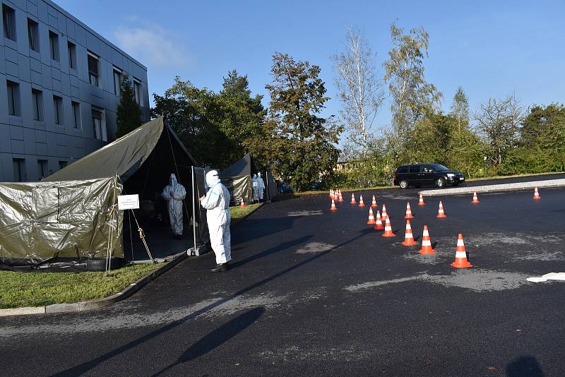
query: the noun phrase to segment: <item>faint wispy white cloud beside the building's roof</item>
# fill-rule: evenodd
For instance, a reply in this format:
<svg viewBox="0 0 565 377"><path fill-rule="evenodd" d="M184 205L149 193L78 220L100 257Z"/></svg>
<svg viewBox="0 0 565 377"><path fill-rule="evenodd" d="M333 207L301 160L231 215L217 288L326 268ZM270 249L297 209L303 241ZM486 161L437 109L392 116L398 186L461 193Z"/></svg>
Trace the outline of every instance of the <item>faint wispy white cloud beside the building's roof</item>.
<svg viewBox="0 0 565 377"><path fill-rule="evenodd" d="M189 64L184 45L172 32L153 23L140 23L136 16L129 16L135 26L122 26L114 31L119 48L133 56L148 68L181 68Z"/></svg>

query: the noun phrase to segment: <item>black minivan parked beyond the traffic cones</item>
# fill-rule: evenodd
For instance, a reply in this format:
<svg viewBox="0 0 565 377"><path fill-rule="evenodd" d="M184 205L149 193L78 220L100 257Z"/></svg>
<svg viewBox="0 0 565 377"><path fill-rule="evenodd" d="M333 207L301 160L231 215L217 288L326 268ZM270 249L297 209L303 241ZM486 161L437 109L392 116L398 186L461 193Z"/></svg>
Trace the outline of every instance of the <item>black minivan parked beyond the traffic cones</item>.
<svg viewBox="0 0 565 377"><path fill-rule="evenodd" d="M396 169L393 183L400 188L408 186L425 186L435 184L444 187L446 184L457 186L465 181L465 176L457 170L450 170L440 164L403 165Z"/></svg>

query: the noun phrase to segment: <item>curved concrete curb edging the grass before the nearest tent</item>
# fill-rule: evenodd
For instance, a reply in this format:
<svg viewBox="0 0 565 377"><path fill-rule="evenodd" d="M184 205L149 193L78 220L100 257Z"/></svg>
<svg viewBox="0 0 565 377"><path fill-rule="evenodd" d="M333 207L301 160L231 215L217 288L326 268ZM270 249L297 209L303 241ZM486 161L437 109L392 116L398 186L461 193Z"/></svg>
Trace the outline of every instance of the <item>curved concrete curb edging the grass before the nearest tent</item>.
<svg viewBox="0 0 565 377"><path fill-rule="evenodd" d="M29 306L25 308L16 309L0 309L0 317L5 316L22 316L26 314L46 314L46 313L66 313L68 311L85 311L91 309L99 309L105 306L116 304L118 301L130 297L132 294L136 293L139 289L144 287L155 280L158 276L166 273L168 270L173 268L175 265L181 263L187 258L186 253L179 254L177 258L167 263L167 265L157 268L157 270L152 273L141 277L136 282L131 283L129 287L124 288L121 292L117 294L112 294L110 297L105 297L104 299L95 299L90 301L73 302L71 304L52 304L47 306Z"/></svg>

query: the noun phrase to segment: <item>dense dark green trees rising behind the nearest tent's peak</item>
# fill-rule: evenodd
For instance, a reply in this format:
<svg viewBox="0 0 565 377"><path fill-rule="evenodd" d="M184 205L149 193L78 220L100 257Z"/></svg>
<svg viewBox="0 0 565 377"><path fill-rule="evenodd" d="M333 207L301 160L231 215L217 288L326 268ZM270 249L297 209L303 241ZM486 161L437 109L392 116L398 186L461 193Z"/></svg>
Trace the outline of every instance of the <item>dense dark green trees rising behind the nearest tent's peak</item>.
<svg viewBox="0 0 565 377"><path fill-rule="evenodd" d="M223 169L239 160L262 131L262 97L251 97L246 76L235 71L219 94L177 77L163 96L153 97L153 114L167 114L196 160L208 167Z"/></svg>

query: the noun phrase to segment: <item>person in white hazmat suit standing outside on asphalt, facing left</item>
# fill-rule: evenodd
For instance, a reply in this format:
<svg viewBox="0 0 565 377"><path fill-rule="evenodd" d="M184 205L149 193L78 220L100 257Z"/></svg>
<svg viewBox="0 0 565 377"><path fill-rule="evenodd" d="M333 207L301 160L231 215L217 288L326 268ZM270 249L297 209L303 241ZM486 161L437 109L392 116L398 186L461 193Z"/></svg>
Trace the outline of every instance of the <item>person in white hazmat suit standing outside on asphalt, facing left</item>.
<svg viewBox="0 0 565 377"><path fill-rule="evenodd" d="M210 170L206 173L206 186L210 189L200 198L203 208L206 208L206 220L210 232L210 244L216 255L216 267L211 271L220 273L227 270L227 263L232 260L232 241L230 235L230 192L220 182L218 172Z"/></svg>

